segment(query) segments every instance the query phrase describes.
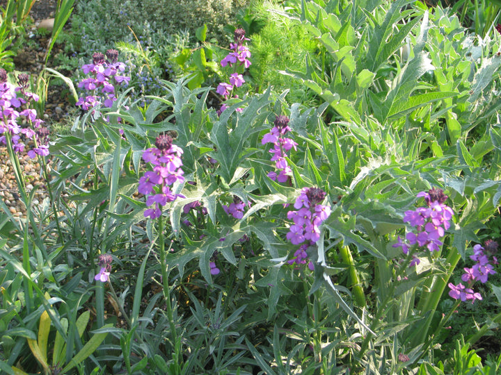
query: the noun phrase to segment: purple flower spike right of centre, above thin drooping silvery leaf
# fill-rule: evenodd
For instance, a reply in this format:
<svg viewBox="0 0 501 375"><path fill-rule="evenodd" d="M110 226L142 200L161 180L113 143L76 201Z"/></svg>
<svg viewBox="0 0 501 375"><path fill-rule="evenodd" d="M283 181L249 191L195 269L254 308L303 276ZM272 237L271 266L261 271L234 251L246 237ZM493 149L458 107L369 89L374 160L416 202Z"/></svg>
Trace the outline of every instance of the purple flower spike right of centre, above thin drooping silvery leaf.
<svg viewBox="0 0 501 375"><path fill-rule="evenodd" d="M292 244L302 244L294 253L294 258L287 261L289 265L294 263L303 265L308 257L306 249L312 246L320 238L320 224L331 215L331 207L321 204L326 197L326 192L319 188L303 188L301 194L294 203L296 211L289 211L287 219L292 220L294 225L290 226L287 233L287 240ZM310 269L312 263L308 264Z"/></svg>

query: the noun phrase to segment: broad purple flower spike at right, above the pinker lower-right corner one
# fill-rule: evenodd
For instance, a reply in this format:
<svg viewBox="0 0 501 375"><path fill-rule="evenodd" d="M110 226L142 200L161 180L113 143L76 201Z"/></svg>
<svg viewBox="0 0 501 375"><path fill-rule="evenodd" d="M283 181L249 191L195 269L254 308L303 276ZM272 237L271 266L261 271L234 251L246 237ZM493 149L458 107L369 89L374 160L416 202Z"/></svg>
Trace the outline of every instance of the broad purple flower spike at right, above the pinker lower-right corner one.
<svg viewBox="0 0 501 375"><path fill-rule="evenodd" d="M443 244L440 238L450 228L450 220L454 215L452 208L444 204L447 195L441 189L434 188L429 192L420 192L417 197L423 197L427 206L404 213L404 222L414 226L415 232L407 233L406 241L399 237L397 243L393 245L393 247L401 247L404 254L407 254L415 244L418 247L427 247L429 251L439 251ZM413 255L411 267L419 263L419 258Z"/></svg>

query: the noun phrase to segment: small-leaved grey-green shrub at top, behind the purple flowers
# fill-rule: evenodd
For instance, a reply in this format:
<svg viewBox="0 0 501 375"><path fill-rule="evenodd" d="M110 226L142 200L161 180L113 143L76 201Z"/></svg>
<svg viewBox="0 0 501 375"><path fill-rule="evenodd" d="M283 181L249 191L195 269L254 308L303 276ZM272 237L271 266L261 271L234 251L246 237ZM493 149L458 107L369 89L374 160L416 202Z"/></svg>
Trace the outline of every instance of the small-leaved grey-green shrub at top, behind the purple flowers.
<svg viewBox="0 0 501 375"><path fill-rule="evenodd" d="M116 47L116 42L140 42L166 61L195 38L207 24L209 38L226 45L223 27L236 24L237 11L248 0L88 0L77 3L72 30L66 35L67 52L78 51L84 60L95 51ZM167 66L164 68L168 68Z"/></svg>

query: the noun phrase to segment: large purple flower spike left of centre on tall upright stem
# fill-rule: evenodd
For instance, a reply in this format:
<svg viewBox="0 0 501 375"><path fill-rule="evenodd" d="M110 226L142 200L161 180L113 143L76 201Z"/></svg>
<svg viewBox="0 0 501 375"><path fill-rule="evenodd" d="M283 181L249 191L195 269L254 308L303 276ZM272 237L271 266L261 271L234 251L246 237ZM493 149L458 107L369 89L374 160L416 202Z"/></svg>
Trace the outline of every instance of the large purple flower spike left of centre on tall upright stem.
<svg viewBox="0 0 501 375"><path fill-rule="evenodd" d="M153 208L145 210L145 217L156 219L161 215L160 206L175 201L177 197L184 198L182 194L173 194L169 188L176 181L184 181L181 169L183 151L172 141L169 135L159 135L155 140L156 147L143 152L143 160L154 165L152 171L145 172L139 179L138 192L147 196L147 206L154 204Z"/></svg>

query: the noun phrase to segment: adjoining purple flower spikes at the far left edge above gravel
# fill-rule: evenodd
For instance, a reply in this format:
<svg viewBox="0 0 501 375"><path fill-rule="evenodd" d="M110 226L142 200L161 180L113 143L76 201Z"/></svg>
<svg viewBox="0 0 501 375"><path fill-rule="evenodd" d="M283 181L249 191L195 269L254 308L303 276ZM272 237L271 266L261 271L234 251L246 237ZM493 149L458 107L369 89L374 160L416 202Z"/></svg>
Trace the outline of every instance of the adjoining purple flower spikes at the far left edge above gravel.
<svg viewBox="0 0 501 375"><path fill-rule="evenodd" d="M12 144L17 153L23 152L25 139L33 140L33 148L28 151L30 158L49 155L49 130L42 126L36 110L29 108L31 101L38 101L38 95L29 92L29 76L19 74L18 86L7 81L7 72L0 68L0 144ZM24 117L30 124L19 126L19 119Z"/></svg>

